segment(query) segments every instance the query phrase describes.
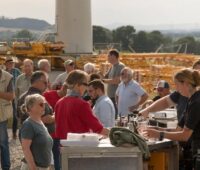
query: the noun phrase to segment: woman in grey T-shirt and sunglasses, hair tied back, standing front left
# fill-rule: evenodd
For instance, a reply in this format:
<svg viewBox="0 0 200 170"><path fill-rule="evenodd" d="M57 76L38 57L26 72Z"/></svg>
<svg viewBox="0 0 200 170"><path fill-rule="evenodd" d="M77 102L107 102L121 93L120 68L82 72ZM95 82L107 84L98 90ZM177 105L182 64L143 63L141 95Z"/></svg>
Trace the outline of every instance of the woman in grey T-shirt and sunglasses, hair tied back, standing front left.
<svg viewBox="0 0 200 170"><path fill-rule="evenodd" d="M45 102L40 94L28 95L25 99L25 109L29 117L20 130L25 157L21 170L48 170L50 167L53 141L41 120Z"/></svg>

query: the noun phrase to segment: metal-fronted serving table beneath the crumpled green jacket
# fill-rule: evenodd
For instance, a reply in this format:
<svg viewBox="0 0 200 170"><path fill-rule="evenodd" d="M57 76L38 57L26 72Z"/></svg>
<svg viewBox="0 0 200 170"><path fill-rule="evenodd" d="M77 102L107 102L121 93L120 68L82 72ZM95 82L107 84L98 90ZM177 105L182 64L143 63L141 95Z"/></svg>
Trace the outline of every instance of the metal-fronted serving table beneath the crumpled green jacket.
<svg viewBox="0 0 200 170"><path fill-rule="evenodd" d="M149 145L151 152L169 155L168 170L178 169L177 143L169 140ZM115 147L109 140L98 146L61 147L62 170L143 170L142 154L138 147Z"/></svg>

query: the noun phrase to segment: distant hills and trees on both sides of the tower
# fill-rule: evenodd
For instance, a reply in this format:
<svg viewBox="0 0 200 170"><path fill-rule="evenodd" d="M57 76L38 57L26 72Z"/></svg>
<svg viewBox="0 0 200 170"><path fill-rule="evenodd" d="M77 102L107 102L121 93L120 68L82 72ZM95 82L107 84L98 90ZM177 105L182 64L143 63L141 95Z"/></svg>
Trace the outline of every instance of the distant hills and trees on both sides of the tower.
<svg viewBox="0 0 200 170"><path fill-rule="evenodd" d="M0 17L0 41L26 38L37 40L41 34L53 26L43 20ZM53 31L52 31L53 32ZM136 30L126 25L115 29L93 26L95 50L117 48L124 52L179 52L200 54L200 32L165 32L159 30ZM48 37L47 37L48 38ZM54 40L54 37L49 37Z"/></svg>

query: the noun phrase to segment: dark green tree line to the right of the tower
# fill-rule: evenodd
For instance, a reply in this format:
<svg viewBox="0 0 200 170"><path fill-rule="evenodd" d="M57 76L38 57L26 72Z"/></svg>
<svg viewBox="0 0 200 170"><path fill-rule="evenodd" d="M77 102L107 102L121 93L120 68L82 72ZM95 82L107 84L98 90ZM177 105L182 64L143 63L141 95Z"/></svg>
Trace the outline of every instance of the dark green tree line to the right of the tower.
<svg viewBox="0 0 200 170"><path fill-rule="evenodd" d="M94 29L95 28L95 29ZM98 28L98 29L96 29ZM101 36L100 36L101 35ZM200 54L200 40L195 36L183 34L174 38L169 34L155 30L151 32L138 31L133 26L121 26L109 30L101 26L93 27L93 43L104 44L104 48L116 46L120 51L127 52L178 52Z"/></svg>

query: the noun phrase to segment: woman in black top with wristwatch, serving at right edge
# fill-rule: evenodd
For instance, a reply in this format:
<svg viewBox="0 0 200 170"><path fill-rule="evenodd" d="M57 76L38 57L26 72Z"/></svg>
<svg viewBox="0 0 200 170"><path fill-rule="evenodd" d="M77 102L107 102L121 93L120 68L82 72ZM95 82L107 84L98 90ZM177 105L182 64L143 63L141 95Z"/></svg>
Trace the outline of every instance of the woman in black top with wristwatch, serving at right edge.
<svg viewBox="0 0 200 170"><path fill-rule="evenodd" d="M188 97L188 103L182 121L176 132L161 132L148 129L149 137L168 138L176 141L192 140L192 154L195 162L197 150L200 149L200 73L193 69L183 69L174 76L177 91Z"/></svg>

